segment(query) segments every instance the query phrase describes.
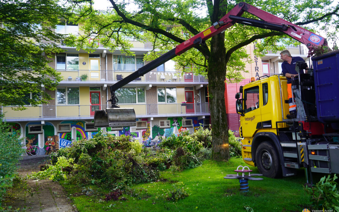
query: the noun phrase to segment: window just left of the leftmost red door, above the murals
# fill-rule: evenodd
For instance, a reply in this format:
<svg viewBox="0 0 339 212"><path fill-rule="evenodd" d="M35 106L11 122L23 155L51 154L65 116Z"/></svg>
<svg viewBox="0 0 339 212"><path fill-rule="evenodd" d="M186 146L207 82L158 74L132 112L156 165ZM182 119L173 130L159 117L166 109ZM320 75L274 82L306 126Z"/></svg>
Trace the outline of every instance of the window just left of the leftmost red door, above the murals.
<svg viewBox="0 0 339 212"><path fill-rule="evenodd" d="M57 88L57 104L79 104L79 88Z"/></svg>

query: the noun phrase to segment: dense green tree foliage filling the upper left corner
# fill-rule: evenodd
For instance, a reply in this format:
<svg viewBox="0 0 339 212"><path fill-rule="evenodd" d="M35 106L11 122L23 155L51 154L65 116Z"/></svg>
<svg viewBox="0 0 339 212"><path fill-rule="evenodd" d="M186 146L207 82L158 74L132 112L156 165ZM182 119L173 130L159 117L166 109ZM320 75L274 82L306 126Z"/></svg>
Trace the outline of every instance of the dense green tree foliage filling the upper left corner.
<svg viewBox="0 0 339 212"><path fill-rule="evenodd" d="M51 99L41 86L54 90L61 76L48 66L64 35L53 28L68 8L58 0L0 1L0 105L36 106ZM59 44L60 45L60 44Z"/></svg>

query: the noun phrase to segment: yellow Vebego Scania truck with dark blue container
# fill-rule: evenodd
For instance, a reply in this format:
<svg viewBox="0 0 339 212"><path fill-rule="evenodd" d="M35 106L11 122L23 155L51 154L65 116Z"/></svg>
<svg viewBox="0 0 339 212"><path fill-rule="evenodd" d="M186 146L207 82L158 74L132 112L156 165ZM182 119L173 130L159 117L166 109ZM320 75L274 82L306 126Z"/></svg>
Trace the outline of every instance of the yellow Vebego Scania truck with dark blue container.
<svg viewBox="0 0 339 212"><path fill-rule="evenodd" d="M236 94L242 158L266 177L339 173L339 50L312 57L313 72L292 81L297 117L289 114L287 80L263 76ZM297 70L305 67L297 62ZM242 96L242 98L240 98Z"/></svg>

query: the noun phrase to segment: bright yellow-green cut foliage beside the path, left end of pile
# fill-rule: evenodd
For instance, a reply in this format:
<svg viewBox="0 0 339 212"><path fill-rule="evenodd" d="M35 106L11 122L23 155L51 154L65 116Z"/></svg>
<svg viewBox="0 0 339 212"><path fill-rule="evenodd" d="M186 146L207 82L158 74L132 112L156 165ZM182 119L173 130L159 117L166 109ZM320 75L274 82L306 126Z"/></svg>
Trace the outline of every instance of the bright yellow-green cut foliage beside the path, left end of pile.
<svg viewBox="0 0 339 212"><path fill-rule="evenodd" d="M74 162L73 158L65 158L64 156L58 157L58 161L56 164L53 165L48 165L48 168L37 172L33 173L27 176L29 179L50 179L53 181L59 181L59 180L65 180L67 179L68 171L70 167L72 167Z"/></svg>

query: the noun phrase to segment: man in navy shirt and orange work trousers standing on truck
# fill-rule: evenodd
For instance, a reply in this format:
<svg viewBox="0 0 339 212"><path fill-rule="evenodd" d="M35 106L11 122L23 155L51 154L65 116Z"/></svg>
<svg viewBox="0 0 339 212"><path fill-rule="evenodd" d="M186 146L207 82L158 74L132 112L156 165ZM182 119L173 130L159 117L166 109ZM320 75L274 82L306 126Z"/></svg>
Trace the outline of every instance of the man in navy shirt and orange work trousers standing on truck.
<svg viewBox="0 0 339 212"><path fill-rule="evenodd" d="M291 53L288 50L283 50L280 53L281 59L284 61L281 64L282 73L287 78L287 93L288 93L288 103L290 104L290 114L287 114L286 117L291 118L297 118L297 107L294 99L292 98L292 79L296 76L298 76L298 73L296 72L296 62L297 61L304 61L301 57L292 57ZM305 71L307 73L307 70Z"/></svg>

